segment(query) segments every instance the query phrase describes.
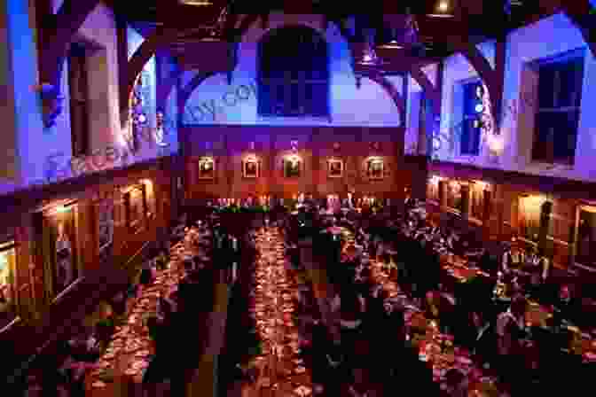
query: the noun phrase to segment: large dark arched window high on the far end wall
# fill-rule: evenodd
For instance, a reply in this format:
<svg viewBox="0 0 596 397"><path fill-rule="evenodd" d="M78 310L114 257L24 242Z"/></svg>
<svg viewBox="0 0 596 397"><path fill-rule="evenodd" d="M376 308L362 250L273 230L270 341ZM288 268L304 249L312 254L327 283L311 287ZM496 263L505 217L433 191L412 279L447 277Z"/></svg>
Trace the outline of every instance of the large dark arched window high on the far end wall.
<svg viewBox="0 0 596 397"><path fill-rule="evenodd" d="M259 43L260 116L327 117L327 43L310 27L281 27Z"/></svg>

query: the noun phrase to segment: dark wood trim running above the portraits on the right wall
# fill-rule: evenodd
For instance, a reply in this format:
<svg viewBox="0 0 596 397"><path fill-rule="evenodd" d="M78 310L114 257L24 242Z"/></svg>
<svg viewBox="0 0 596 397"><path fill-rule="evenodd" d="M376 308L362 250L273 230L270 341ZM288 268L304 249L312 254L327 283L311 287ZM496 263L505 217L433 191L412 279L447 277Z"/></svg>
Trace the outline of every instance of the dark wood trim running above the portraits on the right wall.
<svg viewBox="0 0 596 397"><path fill-rule="evenodd" d="M506 184L521 191L541 191L551 193L560 199L594 199L596 183L576 181L553 176L529 175L517 171L495 168L481 168L447 161L433 161L430 172L459 179L477 179L488 183Z"/></svg>

